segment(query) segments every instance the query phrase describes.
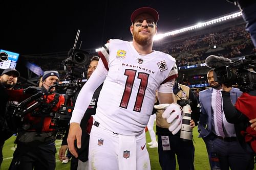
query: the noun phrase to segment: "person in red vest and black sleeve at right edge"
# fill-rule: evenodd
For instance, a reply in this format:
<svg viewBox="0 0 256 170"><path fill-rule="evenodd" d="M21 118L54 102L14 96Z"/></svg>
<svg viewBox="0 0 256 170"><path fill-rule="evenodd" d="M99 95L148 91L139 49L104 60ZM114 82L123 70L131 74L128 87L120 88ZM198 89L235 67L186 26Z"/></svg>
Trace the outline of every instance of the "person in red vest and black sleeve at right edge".
<svg viewBox="0 0 256 170"><path fill-rule="evenodd" d="M252 148L256 153L256 141L254 141L256 132L250 126L249 122L249 119L255 117L253 111L256 109L256 90L243 92L236 104L233 105L230 102L230 90L232 87L222 84L222 89L223 110L227 121L237 125L237 137L242 148L248 152L251 152Z"/></svg>

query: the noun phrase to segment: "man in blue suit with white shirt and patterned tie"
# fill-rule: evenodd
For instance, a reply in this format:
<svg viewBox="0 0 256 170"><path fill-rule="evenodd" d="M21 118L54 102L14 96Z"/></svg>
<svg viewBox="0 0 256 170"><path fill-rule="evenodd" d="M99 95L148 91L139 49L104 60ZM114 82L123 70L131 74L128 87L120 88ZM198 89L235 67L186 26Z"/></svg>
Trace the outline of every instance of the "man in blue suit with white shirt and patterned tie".
<svg viewBox="0 0 256 170"><path fill-rule="evenodd" d="M214 80L213 69L207 73L211 88L199 92L200 118L199 137L202 137L208 152L211 169L253 169L253 156L242 149L237 139L234 124L227 122L221 100L221 83ZM230 91L232 103L236 103L242 92Z"/></svg>

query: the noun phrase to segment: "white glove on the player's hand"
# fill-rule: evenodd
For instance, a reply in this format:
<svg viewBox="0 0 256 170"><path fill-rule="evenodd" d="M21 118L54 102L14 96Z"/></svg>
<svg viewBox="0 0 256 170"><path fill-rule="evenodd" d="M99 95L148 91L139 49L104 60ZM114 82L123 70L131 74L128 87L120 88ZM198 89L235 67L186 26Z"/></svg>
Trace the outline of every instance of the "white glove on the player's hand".
<svg viewBox="0 0 256 170"><path fill-rule="evenodd" d="M167 123L170 124L169 131L172 134L176 134L181 129L182 118L183 118L183 110L180 105L176 103L172 104L160 104L155 105L155 109L164 109L165 111L162 114L162 117L166 119Z"/></svg>

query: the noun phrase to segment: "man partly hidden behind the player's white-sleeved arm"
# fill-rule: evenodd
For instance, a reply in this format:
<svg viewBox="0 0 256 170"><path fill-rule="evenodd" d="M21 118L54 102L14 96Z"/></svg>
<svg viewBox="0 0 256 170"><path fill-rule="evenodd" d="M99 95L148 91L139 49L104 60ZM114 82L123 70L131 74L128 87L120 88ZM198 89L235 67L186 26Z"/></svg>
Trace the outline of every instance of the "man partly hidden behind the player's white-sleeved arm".
<svg viewBox="0 0 256 170"><path fill-rule="evenodd" d="M91 75L93 74L94 70L96 69L97 65L98 65L98 61L99 61L99 57L98 56L94 56L91 59L91 62L88 66L88 70L87 70L87 80L91 77ZM102 88L101 84L96 91L93 94L93 98L91 100L91 103L88 107L88 109L86 110L86 113L84 113L84 116L81 120L80 123L80 127L82 129L82 136L81 136L81 142L82 142L82 147L80 149L77 149L77 153L78 153L78 157L75 158L74 156L71 159L71 164L70 164L70 169L71 170L84 170L84 169L88 169L89 165L88 165L88 154L89 154L89 139L90 139L90 135L88 134L87 128L90 128L88 126L92 126L92 117L91 115L94 115L96 113L96 108L97 108L97 102L98 102L98 97L99 97L99 92ZM76 91L75 93L75 101L77 98L78 93L80 92L80 89ZM90 119L90 120L89 120ZM88 125L88 121L91 122L91 125ZM68 143L67 143L67 136L68 134L65 134L66 138L63 138L62 140L62 144L61 144L61 148L59 149L59 160L63 161L65 160L65 153L68 149ZM75 141L76 142L76 141ZM76 143L75 143L76 146Z"/></svg>

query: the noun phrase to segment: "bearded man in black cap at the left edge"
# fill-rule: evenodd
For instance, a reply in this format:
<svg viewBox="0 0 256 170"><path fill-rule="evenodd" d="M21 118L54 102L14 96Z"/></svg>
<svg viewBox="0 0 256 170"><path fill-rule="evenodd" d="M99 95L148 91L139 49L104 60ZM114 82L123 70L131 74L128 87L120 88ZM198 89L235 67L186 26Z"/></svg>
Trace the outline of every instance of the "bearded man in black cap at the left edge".
<svg viewBox="0 0 256 170"><path fill-rule="evenodd" d="M17 83L17 79L19 77L19 72L16 69L7 68L2 72L0 76L0 88L1 88L1 110L0 110L0 123L1 123L1 130L0 130L0 167L3 162L3 147L5 141L9 139L15 131L9 127L8 125L8 111L10 111L10 107L13 105L17 105L15 101L8 102L8 94L6 93L5 89L13 89L13 87Z"/></svg>

